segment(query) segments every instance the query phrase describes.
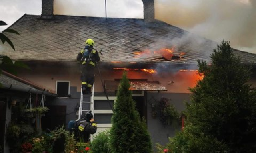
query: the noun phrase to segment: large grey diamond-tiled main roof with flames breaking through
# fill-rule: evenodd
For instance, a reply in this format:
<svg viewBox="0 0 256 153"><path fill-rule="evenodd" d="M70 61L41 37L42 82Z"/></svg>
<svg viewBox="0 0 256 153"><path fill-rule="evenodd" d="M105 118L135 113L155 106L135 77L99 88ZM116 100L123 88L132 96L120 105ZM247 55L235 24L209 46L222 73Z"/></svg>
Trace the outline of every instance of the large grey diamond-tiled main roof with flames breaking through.
<svg viewBox="0 0 256 153"><path fill-rule="evenodd" d="M103 63L196 64L198 59L209 61L217 44L159 20L145 24L143 19L128 18L106 20L61 15L55 15L54 20L39 18L37 15L22 16L10 27L20 35L5 33L16 51L2 44L0 51L14 60L75 61L84 41L91 38L95 41L95 49L102 49L100 62ZM174 56L163 56L163 48L172 49ZM136 55L138 53L142 55ZM234 53L242 57L244 64L256 61L256 54L239 50Z"/></svg>

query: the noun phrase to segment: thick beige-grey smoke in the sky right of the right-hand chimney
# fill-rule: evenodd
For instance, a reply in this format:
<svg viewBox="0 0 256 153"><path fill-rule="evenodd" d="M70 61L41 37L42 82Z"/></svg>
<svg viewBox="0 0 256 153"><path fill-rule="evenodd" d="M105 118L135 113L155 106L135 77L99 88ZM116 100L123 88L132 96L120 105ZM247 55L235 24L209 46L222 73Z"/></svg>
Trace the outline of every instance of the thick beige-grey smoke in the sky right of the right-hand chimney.
<svg viewBox="0 0 256 153"><path fill-rule="evenodd" d="M156 18L256 53L256 0L156 0Z"/></svg>

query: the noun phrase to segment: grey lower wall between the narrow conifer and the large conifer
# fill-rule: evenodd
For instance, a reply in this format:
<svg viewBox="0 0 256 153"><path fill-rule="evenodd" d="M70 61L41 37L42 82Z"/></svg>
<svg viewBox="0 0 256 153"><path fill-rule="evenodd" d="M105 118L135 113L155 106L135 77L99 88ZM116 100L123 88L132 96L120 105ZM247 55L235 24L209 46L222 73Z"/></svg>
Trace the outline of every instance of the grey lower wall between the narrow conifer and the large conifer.
<svg viewBox="0 0 256 153"><path fill-rule="evenodd" d="M184 101L190 102L190 95L185 93L157 93L151 92L147 94L147 124L148 130L150 132L153 147L155 147L156 143L160 143L161 145L165 145L168 142L168 137L173 137L176 131L180 131L181 126L177 126L174 128L173 125L164 126L158 117L152 118L151 115L151 103L155 100L160 100L162 97L171 99L170 104L173 104L175 108L180 112L185 109Z"/></svg>

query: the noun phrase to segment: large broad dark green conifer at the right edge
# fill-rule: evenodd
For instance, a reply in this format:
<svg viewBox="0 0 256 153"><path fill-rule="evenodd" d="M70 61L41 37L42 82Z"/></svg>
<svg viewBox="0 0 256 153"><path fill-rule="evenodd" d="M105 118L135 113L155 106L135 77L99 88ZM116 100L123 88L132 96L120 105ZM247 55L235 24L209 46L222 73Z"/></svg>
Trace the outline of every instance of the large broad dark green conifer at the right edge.
<svg viewBox="0 0 256 153"><path fill-rule="evenodd" d="M250 68L241 64L226 41L210 58L210 65L198 61L204 78L191 89L184 132L168 146L173 153L255 153L256 92L248 84Z"/></svg>

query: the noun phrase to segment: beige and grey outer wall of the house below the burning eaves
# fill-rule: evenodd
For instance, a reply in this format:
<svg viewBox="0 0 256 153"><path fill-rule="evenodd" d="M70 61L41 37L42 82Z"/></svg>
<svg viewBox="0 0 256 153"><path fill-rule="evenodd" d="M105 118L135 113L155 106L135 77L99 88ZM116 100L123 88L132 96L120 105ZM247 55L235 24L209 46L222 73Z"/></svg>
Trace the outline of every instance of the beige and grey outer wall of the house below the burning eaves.
<svg viewBox="0 0 256 153"><path fill-rule="evenodd" d="M48 103L49 105L65 105L66 110L66 127L68 121L76 120L74 109L76 104L80 102L80 69L79 65L57 65L46 66L37 65L31 67L31 71L19 72L19 77L26 78L36 84L45 86L46 88L55 92L57 80L70 81L70 95L69 98L56 98ZM114 80L122 78L123 71L112 69L101 69L102 80ZM95 70L95 96L105 96L103 94L103 88L98 75L98 71ZM185 109L184 101L190 101L190 91L188 87L193 87L196 81L201 78L196 71L186 72L172 72L169 70L158 71L157 74L149 74L142 71L128 71L128 78L130 79L148 79L148 81L159 81L160 84L165 86L168 91L166 92L147 92L147 124L150 135L152 137L153 145L160 143L164 145L168 142L168 137L172 137L175 131L180 131L180 126L174 128L172 125L163 126L159 121L159 118L152 118L151 116L151 103L152 99L156 101L162 97L170 98L171 104L174 104L175 108L179 111ZM170 83L173 81L174 83ZM255 86L256 77L251 79L251 83ZM108 96L114 96L113 93ZM85 101L90 101L88 98ZM102 126L101 129L106 127ZM100 129L100 128L99 128ZM100 130L99 130L100 131Z"/></svg>

